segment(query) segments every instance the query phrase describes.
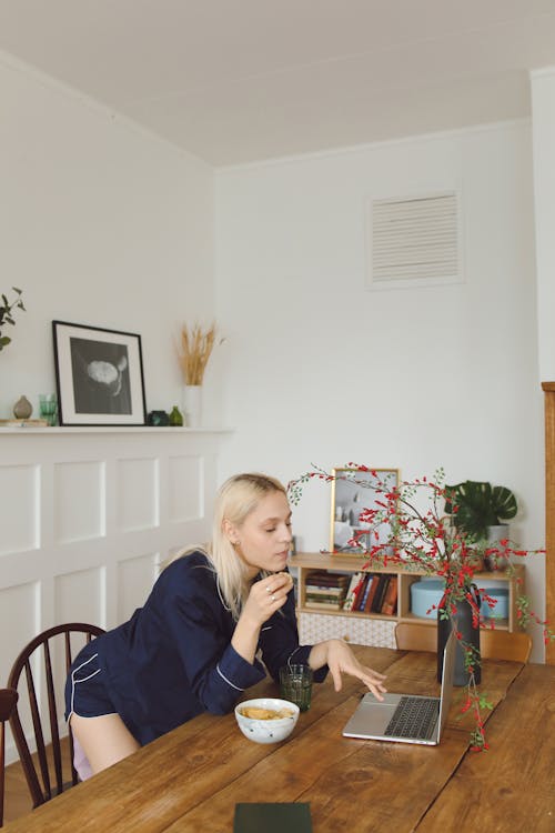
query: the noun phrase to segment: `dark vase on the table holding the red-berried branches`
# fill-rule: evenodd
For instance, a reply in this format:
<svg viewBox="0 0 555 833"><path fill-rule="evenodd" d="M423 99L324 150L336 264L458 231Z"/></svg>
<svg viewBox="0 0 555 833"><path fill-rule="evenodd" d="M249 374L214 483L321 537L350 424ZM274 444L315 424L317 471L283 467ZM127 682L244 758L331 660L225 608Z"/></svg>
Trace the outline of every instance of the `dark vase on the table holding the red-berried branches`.
<svg viewBox="0 0 555 833"><path fill-rule="evenodd" d="M480 611L481 598L478 589L475 584L472 584L470 592L474 600L477 611ZM443 618L444 611L447 610L446 605L454 604L456 612L451 616ZM454 685L467 685L471 675L468 670L465 668L465 649L464 644L472 645L474 651L474 680L477 683L482 680L482 665L480 658L480 623L476 621L476 612L467 599L460 599L455 602L450 602L444 595L440 602L440 609L437 611L437 682L442 681L443 673L443 652L445 650L445 643L453 629L452 619L455 621L456 630L462 634L462 641L457 640L456 652L455 652L455 672L454 672ZM476 623L474 624L474 622ZM464 644L462 644L464 643Z"/></svg>

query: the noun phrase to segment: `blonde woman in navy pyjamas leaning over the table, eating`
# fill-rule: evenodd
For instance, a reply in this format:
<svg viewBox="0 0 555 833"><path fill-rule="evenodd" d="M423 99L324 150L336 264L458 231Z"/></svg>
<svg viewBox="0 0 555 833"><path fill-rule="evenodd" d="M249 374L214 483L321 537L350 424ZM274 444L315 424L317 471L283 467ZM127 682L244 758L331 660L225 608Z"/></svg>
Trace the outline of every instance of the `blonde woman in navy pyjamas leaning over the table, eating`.
<svg viewBox="0 0 555 833"><path fill-rule="evenodd" d="M265 668L278 680L291 660L309 663L316 682L329 669L336 691L346 673L382 699L384 676L342 640L299 644L290 544L291 510L278 480L238 474L223 484L211 545L173 560L144 606L85 645L70 669L65 717L82 777L201 712L230 712Z"/></svg>

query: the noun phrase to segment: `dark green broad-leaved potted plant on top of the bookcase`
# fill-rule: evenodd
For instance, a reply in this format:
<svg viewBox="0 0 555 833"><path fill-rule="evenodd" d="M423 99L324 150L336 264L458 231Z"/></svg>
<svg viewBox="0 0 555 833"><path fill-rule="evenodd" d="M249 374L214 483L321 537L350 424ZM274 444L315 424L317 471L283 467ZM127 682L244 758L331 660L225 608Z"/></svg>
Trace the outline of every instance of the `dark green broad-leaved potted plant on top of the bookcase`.
<svg viewBox="0 0 555 833"><path fill-rule="evenodd" d="M445 486L445 513L468 541L475 542L488 570L506 565L495 560L493 549L508 539L507 521L516 515L517 509L516 498L506 486L476 480Z"/></svg>

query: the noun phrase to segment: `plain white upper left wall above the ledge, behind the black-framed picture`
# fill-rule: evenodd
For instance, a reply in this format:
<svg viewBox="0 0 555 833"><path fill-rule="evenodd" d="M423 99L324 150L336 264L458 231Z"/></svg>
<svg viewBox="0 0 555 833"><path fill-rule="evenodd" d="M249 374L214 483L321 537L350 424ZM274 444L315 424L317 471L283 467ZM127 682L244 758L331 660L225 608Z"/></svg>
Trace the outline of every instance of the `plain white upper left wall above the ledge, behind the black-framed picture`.
<svg viewBox="0 0 555 833"><path fill-rule="evenodd" d="M0 56L0 418L54 390L52 319L140 333L147 408L180 403L173 338L214 310L213 172Z"/></svg>

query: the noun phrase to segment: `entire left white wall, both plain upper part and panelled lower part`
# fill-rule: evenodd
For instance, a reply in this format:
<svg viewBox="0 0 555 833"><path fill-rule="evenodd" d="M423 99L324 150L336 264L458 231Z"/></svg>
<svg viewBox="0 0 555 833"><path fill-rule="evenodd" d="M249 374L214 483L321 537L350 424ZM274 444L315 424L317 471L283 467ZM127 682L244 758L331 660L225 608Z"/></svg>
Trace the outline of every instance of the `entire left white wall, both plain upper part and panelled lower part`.
<svg viewBox="0 0 555 833"><path fill-rule="evenodd" d="M52 319L140 333L148 410L180 404L173 339L214 314L212 169L0 56L0 292L20 287L28 309L3 331L0 418L56 389ZM155 564L205 539L216 435L161 431L2 430L0 620L17 644L74 610L113 626Z"/></svg>

